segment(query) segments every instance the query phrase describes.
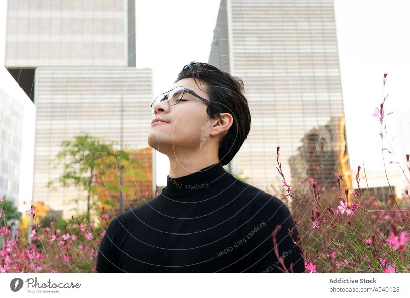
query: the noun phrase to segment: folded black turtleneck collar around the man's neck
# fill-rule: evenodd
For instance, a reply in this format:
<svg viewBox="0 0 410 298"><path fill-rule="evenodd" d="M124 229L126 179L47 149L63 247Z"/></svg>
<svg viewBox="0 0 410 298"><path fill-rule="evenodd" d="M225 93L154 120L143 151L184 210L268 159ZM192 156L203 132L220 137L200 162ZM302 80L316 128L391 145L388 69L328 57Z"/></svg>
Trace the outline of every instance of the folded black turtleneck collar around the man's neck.
<svg viewBox="0 0 410 298"><path fill-rule="evenodd" d="M167 175L167 186L162 189L162 194L167 197L190 195L196 191L209 189L217 182L232 176L223 168L222 162L178 178L172 178Z"/></svg>

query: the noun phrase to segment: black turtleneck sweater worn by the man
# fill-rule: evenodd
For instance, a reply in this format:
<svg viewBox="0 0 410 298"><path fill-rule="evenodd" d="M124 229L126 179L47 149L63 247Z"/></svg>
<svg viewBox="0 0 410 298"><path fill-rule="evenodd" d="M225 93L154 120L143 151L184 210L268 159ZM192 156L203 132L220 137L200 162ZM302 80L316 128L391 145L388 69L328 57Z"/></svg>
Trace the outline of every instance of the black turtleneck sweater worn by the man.
<svg viewBox="0 0 410 298"><path fill-rule="evenodd" d="M97 272L280 272L272 233L286 268L304 272L298 234L278 198L216 163L187 176L167 175L151 201L116 217L97 257Z"/></svg>

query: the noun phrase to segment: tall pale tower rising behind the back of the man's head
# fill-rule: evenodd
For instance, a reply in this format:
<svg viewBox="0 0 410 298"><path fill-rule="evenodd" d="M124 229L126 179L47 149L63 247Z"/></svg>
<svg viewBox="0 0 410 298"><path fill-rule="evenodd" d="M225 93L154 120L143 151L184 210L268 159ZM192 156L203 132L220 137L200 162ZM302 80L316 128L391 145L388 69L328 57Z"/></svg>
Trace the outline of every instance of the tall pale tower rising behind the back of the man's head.
<svg viewBox="0 0 410 298"><path fill-rule="evenodd" d="M339 151L332 154L336 163L347 163L332 0L222 0L209 63L245 84L251 131L232 164L234 172L250 177L247 182L263 190L276 184L277 146L288 181L311 175L309 168L320 166L323 155L306 160L309 155L298 152L313 129L317 143L309 141L311 150L320 150L326 138L322 143ZM328 122L332 131L324 132ZM333 169L321 175L331 179Z"/></svg>

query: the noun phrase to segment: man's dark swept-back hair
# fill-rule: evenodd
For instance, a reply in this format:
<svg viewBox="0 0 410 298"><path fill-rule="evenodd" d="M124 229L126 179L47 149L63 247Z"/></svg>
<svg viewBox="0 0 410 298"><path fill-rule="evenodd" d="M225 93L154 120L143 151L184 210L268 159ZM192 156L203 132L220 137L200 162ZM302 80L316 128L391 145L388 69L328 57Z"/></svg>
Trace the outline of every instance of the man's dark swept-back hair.
<svg viewBox="0 0 410 298"><path fill-rule="evenodd" d="M219 118L220 113L229 113L233 117L232 126L219 141L218 157L222 165L226 165L239 151L251 130L251 113L244 95L243 81L212 65L196 61L184 66L174 83L184 78L193 78L199 88L197 79L207 85L202 90L209 95L210 101L216 102L214 104L218 108L207 104L209 119Z"/></svg>

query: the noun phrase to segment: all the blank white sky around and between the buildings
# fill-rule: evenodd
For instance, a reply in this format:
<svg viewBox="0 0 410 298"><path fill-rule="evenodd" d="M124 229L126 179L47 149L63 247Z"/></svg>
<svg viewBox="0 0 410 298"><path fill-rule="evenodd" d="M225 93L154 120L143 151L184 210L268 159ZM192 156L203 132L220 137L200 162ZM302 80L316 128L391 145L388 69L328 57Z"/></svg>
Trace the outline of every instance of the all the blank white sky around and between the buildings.
<svg viewBox="0 0 410 298"><path fill-rule="evenodd" d="M219 0L137 0L136 66L153 70L154 95L169 90L186 63L208 62L218 8ZM389 136L396 137L397 154L410 153L404 137L408 130L403 129L410 116L410 4L334 0L334 8L351 166L364 161L366 169L381 171L380 123L372 114L382 100L384 73L389 94L385 109L394 111L387 118ZM0 42L2 57L3 37ZM168 158L158 153L157 185L166 184L168 172Z"/></svg>

